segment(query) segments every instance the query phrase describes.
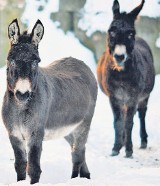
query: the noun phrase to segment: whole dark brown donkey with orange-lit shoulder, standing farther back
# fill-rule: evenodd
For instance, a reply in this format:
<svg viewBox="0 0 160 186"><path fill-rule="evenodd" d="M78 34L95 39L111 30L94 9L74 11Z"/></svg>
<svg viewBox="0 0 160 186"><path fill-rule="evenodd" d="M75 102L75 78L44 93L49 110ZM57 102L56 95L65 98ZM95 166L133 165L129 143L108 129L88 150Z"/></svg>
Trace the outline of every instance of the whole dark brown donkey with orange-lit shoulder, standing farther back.
<svg viewBox="0 0 160 186"><path fill-rule="evenodd" d="M115 143L112 155L123 145L131 157L133 117L138 110L141 148L147 147L145 115L150 92L154 86L153 57L147 43L135 37L135 19L144 4L130 13L120 13L117 0L113 4L114 19L108 30L107 47L98 63L98 82L109 96L114 115Z"/></svg>

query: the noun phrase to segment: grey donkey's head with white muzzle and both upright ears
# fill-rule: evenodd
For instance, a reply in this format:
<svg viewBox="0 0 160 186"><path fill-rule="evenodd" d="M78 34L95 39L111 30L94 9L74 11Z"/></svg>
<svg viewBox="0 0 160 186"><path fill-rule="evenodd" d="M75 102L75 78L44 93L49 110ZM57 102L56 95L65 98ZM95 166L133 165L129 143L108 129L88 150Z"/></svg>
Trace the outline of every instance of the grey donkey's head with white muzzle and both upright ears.
<svg viewBox="0 0 160 186"><path fill-rule="evenodd" d="M44 27L38 20L31 34L20 35L17 19L8 27L11 48L7 58L7 84L16 100L26 103L36 89L38 63L40 57L38 44L43 37Z"/></svg>

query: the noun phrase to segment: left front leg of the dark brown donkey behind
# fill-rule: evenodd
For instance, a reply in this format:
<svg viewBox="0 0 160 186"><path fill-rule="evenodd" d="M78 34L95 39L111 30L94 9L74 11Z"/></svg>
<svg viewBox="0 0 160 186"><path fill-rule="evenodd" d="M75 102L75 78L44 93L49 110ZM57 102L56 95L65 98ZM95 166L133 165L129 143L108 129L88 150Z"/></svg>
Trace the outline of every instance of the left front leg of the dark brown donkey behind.
<svg viewBox="0 0 160 186"><path fill-rule="evenodd" d="M115 142L112 149L111 156L117 156L119 154L120 149L123 146L123 136L124 136L124 115L120 106L115 104L115 100L111 100L111 107L114 115L114 130L115 130Z"/></svg>

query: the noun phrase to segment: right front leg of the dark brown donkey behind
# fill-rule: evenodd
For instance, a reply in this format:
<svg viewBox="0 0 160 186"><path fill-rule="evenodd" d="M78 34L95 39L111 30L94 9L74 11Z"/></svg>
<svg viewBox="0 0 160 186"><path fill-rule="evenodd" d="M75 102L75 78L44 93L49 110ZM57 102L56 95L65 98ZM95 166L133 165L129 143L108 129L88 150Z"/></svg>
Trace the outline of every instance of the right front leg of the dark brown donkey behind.
<svg viewBox="0 0 160 186"><path fill-rule="evenodd" d="M132 128L133 128L133 117L135 114L135 107L128 107L125 121L125 145L126 145L126 157L132 157L133 144L132 144Z"/></svg>

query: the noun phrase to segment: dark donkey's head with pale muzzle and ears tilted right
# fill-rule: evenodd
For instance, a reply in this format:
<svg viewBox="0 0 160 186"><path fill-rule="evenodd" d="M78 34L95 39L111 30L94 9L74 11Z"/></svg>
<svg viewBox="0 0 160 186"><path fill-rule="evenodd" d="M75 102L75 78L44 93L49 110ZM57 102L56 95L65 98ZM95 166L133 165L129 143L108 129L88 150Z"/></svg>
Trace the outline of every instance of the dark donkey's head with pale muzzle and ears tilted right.
<svg viewBox="0 0 160 186"><path fill-rule="evenodd" d="M113 56L117 66L125 67L125 62L130 57L135 42L134 22L144 4L133 9L130 13L120 13L120 6L117 0L113 3L113 21L108 30L109 52Z"/></svg>

